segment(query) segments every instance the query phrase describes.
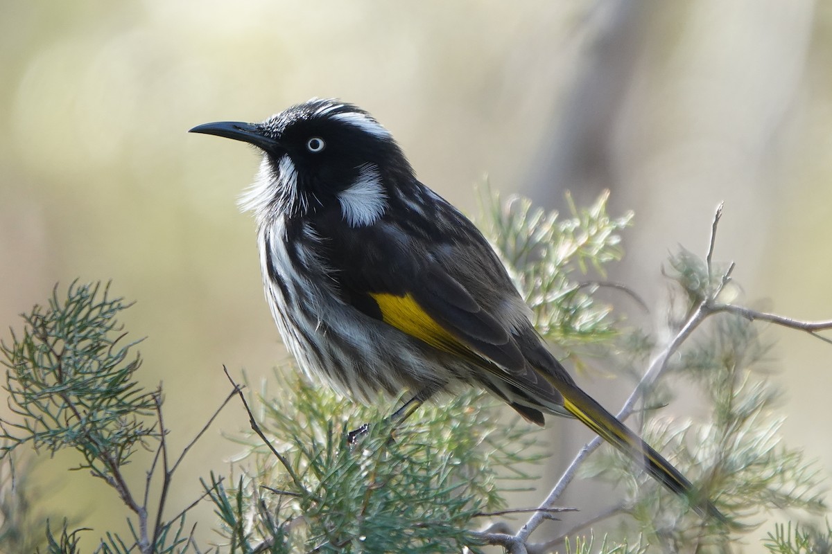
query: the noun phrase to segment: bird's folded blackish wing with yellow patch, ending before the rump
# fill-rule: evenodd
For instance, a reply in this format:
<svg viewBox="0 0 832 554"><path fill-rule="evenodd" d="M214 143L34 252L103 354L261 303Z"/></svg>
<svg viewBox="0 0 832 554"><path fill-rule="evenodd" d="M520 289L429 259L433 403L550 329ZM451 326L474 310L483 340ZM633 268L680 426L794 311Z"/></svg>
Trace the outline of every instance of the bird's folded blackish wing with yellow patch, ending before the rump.
<svg viewBox="0 0 832 554"><path fill-rule="evenodd" d="M324 263L344 302L365 315L438 350L521 375L527 361L509 324L518 316L500 311L522 306L504 301L519 300L518 292L473 223L448 209L444 220L409 218L407 231L388 220L346 231L340 225L339 233L325 233L324 224Z"/></svg>

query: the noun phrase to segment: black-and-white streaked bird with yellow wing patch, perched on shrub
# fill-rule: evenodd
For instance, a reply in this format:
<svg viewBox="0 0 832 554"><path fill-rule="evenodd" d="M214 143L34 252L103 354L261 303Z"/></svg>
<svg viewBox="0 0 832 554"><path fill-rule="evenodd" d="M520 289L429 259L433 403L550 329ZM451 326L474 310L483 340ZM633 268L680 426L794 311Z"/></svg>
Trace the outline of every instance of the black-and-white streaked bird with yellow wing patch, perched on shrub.
<svg viewBox="0 0 832 554"><path fill-rule="evenodd" d="M532 326L488 240L416 177L369 112L313 98L259 123L193 133L260 150L240 197L254 213L265 297L300 369L342 395L412 398L488 390L532 424L580 420L701 517L725 521L671 463L582 390ZM406 396L407 398L407 396Z"/></svg>

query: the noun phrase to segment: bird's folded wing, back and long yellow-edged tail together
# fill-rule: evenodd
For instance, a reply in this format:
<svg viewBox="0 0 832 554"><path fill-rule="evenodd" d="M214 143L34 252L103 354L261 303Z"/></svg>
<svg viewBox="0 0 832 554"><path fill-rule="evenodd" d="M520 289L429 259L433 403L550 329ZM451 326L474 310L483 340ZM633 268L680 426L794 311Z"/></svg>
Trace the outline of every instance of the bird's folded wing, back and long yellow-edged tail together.
<svg viewBox="0 0 832 554"><path fill-rule="evenodd" d="M424 223L425 233L404 233L398 222L383 220L331 237L327 262L344 301L471 360L494 378L483 378L483 385L537 424L543 421L538 408L572 414L667 488L690 498L697 512L723 519L713 504L696 498L671 463L575 384L517 313L518 292L488 242L455 208L448 209L453 211L443 212L444 220ZM433 228L439 233L431 233ZM509 398L505 386L531 404Z"/></svg>

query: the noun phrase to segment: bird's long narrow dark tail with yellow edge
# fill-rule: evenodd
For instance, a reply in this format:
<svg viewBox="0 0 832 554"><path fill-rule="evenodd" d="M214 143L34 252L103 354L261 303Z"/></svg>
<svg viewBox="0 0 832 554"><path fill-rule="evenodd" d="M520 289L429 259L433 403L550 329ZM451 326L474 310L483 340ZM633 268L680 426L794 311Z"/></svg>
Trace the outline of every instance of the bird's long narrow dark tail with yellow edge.
<svg viewBox="0 0 832 554"><path fill-rule="evenodd" d="M641 438L628 429L614 415L610 414L583 390L572 383L558 380L552 382L563 396L563 407L580 419L602 439L621 450L630 458L641 463L647 472L676 494L687 498L702 517L713 517L726 522L726 517L708 500L697 500L693 485L674 468L670 462L652 449Z"/></svg>

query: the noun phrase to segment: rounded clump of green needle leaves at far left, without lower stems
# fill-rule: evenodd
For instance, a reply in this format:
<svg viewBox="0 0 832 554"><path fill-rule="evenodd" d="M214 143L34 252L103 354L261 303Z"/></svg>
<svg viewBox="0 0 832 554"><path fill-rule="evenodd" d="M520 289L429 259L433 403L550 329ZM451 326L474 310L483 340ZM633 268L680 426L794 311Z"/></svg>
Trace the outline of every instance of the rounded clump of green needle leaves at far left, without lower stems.
<svg viewBox="0 0 832 554"><path fill-rule="evenodd" d="M100 294L99 294L100 293ZM3 449L32 443L55 453L72 448L87 468L107 478L127 463L136 447L156 438L148 416L155 395L133 375L141 365L124 342L116 315L127 306L109 287L73 283L66 300L57 287L47 306L24 314L22 336L0 342L8 371L9 406L21 423L3 421Z"/></svg>

